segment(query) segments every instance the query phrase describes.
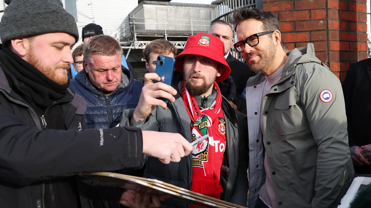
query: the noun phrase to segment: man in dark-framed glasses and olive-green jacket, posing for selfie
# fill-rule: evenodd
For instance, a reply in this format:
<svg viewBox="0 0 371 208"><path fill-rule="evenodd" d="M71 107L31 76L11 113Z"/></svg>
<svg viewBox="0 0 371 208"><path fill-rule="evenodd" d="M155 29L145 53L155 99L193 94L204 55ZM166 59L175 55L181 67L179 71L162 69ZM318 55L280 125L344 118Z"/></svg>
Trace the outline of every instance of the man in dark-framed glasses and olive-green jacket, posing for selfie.
<svg viewBox="0 0 371 208"><path fill-rule="evenodd" d="M285 53L269 11L241 8L229 20L234 48L261 72L246 85L249 207L331 207L354 174L339 79L312 43Z"/></svg>

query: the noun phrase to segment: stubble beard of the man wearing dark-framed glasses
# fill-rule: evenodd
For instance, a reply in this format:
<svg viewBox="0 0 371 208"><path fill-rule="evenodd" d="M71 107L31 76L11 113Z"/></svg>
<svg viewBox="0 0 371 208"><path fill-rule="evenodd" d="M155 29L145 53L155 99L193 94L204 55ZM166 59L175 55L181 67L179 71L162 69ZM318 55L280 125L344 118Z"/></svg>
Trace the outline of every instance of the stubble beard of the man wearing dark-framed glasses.
<svg viewBox="0 0 371 208"><path fill-rule="evenodd" d="M253 51L251 53L246 54L246 59L248 60L249 57L252 56L259 56L259 61L251 61L250 63L247 62L247 64L250 67L250 70L253 72L260 71L262 73L266 73L268 70L268 67L273 63L275 60L277 48L273 43L269 44L267 47L263 49L263 52L260 51Z"/></svg>

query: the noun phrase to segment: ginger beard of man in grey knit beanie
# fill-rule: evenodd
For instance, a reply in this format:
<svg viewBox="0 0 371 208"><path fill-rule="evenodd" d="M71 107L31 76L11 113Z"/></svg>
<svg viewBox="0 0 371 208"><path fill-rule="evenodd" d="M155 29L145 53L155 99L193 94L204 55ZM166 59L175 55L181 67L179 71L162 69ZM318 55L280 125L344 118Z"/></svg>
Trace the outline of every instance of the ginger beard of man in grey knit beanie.
<svg viewBox="0 0 371 208"><path fill-rule="evenodd" d="M37 70L41 71L47 78L53 80L55 83L60 85L65 85L68 83L68 73L67 70L70 68L69 64L58 64L56 66L48 66L43 64L37 57L36 53L31 49L29 50L28 63L34 66ZM63 74L60 75L57 73L58 68L65 68Z"/></svg>

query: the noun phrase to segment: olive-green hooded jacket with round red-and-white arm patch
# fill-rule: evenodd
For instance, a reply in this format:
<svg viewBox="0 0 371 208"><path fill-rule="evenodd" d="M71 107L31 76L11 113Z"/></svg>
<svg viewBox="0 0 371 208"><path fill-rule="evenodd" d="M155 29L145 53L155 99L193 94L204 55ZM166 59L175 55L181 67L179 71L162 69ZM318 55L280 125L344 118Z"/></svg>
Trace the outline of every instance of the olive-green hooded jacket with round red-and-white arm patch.
<svg viewBox="0 0 371 208"><path fill-rule="evenodd" d="M262 98L264 80L260 73L246 86L249 207L255 208L265 183L264 151L278 208L330 207L354 174L339 79L315 57L309 43L288 53L282 77Z"/></svg>

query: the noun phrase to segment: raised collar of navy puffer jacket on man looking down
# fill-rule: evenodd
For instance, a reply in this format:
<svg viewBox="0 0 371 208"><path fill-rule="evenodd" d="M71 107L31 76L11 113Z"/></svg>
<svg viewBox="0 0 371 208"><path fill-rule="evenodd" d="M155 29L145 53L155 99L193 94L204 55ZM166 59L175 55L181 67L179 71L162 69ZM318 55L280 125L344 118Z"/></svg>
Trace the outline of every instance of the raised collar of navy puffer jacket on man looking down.
<svg viewBox="0 0 371 208"><path fill-rule="evenodd" d="M102 95L102 91L95 87L95 85L93 85L85 69L81 70L78 74L76 74L75 80L78 81L83 87L85 87L90 92L97 95ZM124 66L121 66L121 83L117 86L116 90L112 93L112 95L127 90L133 82L134 78L131 72Z"/></svg>

